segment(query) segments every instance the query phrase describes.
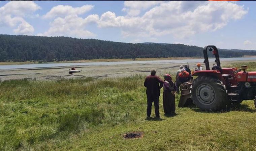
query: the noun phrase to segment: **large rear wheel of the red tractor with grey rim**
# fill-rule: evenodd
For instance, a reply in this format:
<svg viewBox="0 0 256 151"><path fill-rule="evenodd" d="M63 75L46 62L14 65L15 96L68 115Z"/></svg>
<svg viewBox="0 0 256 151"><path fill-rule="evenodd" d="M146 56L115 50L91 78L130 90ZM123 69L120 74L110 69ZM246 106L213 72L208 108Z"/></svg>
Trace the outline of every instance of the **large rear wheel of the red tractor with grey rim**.
<svg viewBox="0 0 256 151"><path fill-rule="evenodd" d="M224 109L229 100L224 85L216 77L199 76L192 84L193 103L202 110Z"/></svg>

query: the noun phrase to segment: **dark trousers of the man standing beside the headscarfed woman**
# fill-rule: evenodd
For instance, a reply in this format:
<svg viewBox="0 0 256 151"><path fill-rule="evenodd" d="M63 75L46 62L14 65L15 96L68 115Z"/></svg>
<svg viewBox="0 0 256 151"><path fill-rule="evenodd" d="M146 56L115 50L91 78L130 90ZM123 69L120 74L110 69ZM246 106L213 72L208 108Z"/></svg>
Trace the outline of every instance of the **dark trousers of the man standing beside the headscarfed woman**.
<svg viewBox="0 0 256 151"><path fill-rule="evenodd" d="M154 102L156 117L159 117L159 96L154 96L152 94L147 94L148 107L147 116L151 115L152 103Z"/></svg>

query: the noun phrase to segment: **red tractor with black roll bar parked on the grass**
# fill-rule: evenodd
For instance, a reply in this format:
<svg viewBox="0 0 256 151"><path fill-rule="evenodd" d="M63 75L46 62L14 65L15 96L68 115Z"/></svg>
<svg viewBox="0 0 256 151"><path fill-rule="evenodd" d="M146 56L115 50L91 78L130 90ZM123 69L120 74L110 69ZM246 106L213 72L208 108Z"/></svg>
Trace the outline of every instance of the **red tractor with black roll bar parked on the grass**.
<svg viewBox="0 0 256 151"><path fill-rule="evenodd" d="M216 66L210 69L207 51L215 56ZM246 72L247 66L241 69L221 68L219 52L216 46L203 48L206 70L195 71L198 76L193 83L187 83L181 92L179 107L188 99L203 110L225 109L229 103L239 104L243 100L256 101L256 71Z"/></svg>

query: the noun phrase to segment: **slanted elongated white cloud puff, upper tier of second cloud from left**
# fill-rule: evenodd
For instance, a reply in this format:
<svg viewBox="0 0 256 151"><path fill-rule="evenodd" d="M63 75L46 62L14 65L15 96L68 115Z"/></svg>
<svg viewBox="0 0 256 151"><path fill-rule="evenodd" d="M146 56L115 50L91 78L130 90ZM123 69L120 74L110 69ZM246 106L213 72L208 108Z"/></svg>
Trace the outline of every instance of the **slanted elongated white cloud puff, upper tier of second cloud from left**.
<svg viewBox="0 0 256 151"><path fill-rule="evenodd" d="M69 5L58 5L43 15L43 18L65 17L67 15L81 15L93 9L93 5L83 5L81 7L72 7Z"/></svg>

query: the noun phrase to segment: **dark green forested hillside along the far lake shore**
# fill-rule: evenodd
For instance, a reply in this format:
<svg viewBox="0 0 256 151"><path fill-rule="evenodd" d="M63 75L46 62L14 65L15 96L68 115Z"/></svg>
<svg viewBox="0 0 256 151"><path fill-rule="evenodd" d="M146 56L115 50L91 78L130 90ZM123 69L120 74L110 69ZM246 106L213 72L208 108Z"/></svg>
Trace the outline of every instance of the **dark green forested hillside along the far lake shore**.
<svg viewBox="0 0 256 151"><path fill-rule="evenodd" d="M220 51L220 57L243 55L256 55L256 52ZM158 57L203 57L203 53L201 47L183 44L132 44L70 37L0 35L0 61Z"/></svg>

